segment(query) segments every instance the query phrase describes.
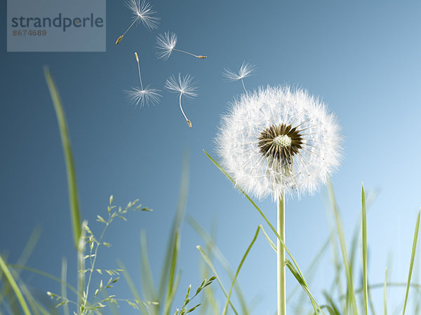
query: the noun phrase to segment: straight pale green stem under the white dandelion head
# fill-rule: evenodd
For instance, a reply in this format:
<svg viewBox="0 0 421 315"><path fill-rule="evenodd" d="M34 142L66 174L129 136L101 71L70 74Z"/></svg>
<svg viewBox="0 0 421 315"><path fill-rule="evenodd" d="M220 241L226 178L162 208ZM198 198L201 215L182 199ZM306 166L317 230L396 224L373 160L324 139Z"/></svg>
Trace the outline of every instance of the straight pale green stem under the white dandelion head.
<svg viewBox="0 0 421 315"><path fill-rule="evenodd" d="M286 315L286 279L285 279L285 195L278 197L278 225L277 232L280 237L276 246L276 262L278 270L278 315Z"/></svg>

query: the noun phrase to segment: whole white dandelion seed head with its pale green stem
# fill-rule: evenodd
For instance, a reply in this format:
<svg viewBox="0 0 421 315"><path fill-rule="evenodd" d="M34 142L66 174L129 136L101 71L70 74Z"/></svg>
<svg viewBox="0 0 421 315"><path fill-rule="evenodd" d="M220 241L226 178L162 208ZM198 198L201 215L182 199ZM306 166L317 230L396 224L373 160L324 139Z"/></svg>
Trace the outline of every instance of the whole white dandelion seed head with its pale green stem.
<svg viewBox="0 0 421 315"><path fill-rule="evenodd" d="M236 185L278 207L278 314L286 314L285 197L314 193L340 160L339 126L306 90L260 88L235 99L217 137L222 165Z"/></svg>

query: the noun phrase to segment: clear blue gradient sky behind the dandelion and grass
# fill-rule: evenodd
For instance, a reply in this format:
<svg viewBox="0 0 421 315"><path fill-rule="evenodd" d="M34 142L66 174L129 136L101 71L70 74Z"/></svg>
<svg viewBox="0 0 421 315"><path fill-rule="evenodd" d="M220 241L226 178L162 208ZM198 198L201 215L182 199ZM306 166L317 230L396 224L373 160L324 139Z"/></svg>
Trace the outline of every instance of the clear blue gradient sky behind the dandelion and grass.
<svg viewBox="0 0 421 315"><path fill-rule="evenodd" d="M288 83L320 95L342 125L344 158L333 183L347 241L361 212L361 181L380 190L368 213L370 283L381 283L388 256L393 281L406 281L417 211L421 206L421 4L417 1L152 1L161 18L157 31L139 25L119 45L116 38L131 22L122 1L107 1L107 52L8 53L2 24L0 107L0 251L15 262L30 233L42 234L27 265L60 275L62 257L75 279L76 255L68 211L65 164L53 104L43 76L48 65L60 89L74 150L80 205L94 231L109 195L116 204L136 198L152 213L132 214L107 234L113 244L100 253L100 265L116 268L119 258L138 278L140 230L147 233L154 272L160 271L178 201L183 153L189 151L187 213L210 229L233 267L262 219L203 154L215 155L215 132L241 83L222 81L225 67L246 60L258 69L247 78L250 90ZM6 19L6 1L1 15ZM199 60L174 52L156 59L157 34L178 34L178 48L207 55ZM137 85L137 51L146 83L163 90L171 73L190 73L199 97L185 102L189 130L178 97L163 91L161 104L135 109L123 90ZM286 244L306 269L329 234L326 190L287 203ZM259 203L274 221L275 205ZM204 244L192 228L182 230L182 304L189 283L201 282L199 253ZM360 255L357 256L357 259ZM316 297L330 285L330 252L312 283ZM276 309L276 256L259 238L241 270L239 283L255 314ZM419 264L417 264L417 268ZM41 290L57 283L25 274ZM73 281L73 279L71 281ZM288 288L295 286L288 278ZM75 281L73 281L75 283ZM139 282L138 282L139 284ZM225 285L229 283L225 281ZM119 295L130 297L121 284ZM219 289L217 288L218 292ZM415 292L415 291L414 291ZM382 311L381 292L375 295ZM394 290L394 307L403 299ZM393 304L393 303L392 303ZM391 309L394 309L391 305Z"/></svg>

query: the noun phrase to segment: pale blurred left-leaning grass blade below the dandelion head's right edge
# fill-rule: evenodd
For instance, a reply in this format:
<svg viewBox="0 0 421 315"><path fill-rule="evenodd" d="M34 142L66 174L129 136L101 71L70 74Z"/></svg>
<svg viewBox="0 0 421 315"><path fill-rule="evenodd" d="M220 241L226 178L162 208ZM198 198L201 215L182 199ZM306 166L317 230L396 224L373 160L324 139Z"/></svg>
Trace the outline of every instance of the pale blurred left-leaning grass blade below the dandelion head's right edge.
<svg viewBox="0 0 421 315"><path fill-rule="evenodd" d="M344 230L343 230L343 227L342 227L342 222L340 220L339 210L338 210L338 207L336 205L335 194L333 193L332 183L330 183L330 181L328 183L328 190L329 190L329 195L330 195L330 201L331 201L332 207L333 207L333 213L335 215L335 223L336 223L336 228L338 230L338 238L339 238L339 242L340 242L340 248L341 248L341 251L342 251L342 259L344 261L345 272L346 272L346 275L347 275L347 300L349 300L351 305L352 305L352 314L357 315L358 310L356 308L354 283L353 283L353 280L352 280L352 274L351 274L350 267L349 267L347 243L345 241L345 234L344 234Z"/></svg>

